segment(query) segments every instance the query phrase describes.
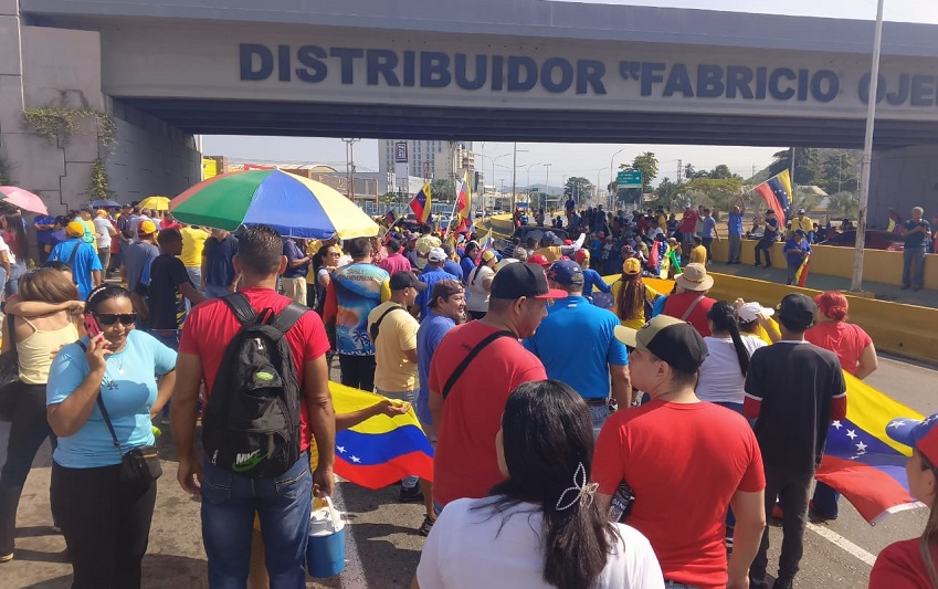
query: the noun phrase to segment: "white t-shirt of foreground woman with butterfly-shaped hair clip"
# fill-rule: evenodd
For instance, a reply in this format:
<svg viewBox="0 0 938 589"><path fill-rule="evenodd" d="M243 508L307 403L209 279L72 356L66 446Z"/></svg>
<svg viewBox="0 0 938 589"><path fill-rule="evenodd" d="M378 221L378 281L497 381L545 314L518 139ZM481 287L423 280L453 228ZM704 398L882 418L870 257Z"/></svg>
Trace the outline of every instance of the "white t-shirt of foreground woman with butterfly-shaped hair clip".
<svg viewBox="0 0 938 589"><path fill-rule="evenodd" d="M540 506L521 503L496 511L485 506L491 501L446 504L420 556L420 587L551 589L542 578ZM483 507L473 509L478 505ZM649 540L624 524L615 527L619 537L614 538L613 554L590 589L663 589L664 577Z"/></svg>

